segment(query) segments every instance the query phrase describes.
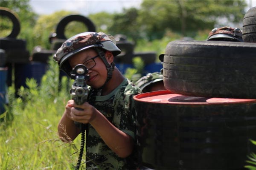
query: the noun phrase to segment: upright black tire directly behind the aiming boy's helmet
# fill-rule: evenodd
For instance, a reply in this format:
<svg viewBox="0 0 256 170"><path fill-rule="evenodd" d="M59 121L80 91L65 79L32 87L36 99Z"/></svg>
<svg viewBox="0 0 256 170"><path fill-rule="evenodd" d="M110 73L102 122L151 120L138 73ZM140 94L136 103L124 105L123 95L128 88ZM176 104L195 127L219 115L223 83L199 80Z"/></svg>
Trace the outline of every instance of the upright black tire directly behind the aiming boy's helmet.
<svg viewBox="0 0 256 170"><path fill-rule="evenodd" d="M82 15L68 15L61 19L61 21L58 23L56 28L56 34L58 39L65 39L67 40L67 37L65 36L65 27L68 23L72 21L79 21L81 23L84 23L85 26L87 26L88 31L95 32L96 26L94 23L87 17L84 17Z"/></svg>

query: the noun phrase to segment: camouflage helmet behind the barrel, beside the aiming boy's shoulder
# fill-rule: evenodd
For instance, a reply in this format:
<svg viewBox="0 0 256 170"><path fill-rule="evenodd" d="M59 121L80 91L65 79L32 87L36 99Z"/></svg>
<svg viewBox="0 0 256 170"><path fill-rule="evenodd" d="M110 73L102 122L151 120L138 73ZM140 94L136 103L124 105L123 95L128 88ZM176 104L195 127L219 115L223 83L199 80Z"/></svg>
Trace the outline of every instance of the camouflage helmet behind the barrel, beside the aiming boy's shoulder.
<svg viewBox="0 0 256 170"><path fill-rule="evenodd" d="M141 77L136 82L134 82L135 85L137 85L142 91L147 86L155 83L163 81L163 73L162 72L154 72L154 73L148 73L147 75Z"/></svg>

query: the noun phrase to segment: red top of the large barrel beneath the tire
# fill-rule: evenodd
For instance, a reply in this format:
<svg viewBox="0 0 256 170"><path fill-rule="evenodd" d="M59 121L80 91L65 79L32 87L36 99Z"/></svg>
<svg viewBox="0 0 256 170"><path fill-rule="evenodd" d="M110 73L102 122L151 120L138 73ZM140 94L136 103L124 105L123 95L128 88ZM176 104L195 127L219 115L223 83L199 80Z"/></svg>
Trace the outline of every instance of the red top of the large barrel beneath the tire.
<svg viewBox="0 0 256 170"><path fill-rule="evenodd" d="M168 90L153 91L134 96L138 102L169 104L169 105L223 105L239 103L256 103L256 99L207 98L173 94Z"/></svg>

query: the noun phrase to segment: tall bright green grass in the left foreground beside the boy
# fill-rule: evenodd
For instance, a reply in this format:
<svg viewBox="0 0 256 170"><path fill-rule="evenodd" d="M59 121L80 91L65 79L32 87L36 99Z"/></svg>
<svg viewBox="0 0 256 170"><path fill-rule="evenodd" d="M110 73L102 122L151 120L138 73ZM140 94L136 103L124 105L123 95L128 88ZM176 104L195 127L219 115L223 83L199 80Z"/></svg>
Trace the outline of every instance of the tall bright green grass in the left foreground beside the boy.
<svg viewBox="0 0 256 170"><path fill-rule="evenodd" d="M58 66L50 60L41 86L27 79L28 88L8 89L9 106L0 122L1 170L71 170L78 159L80 137L63 143L57 134L58 121L70 94L66 77L59 88Z"/></svg>

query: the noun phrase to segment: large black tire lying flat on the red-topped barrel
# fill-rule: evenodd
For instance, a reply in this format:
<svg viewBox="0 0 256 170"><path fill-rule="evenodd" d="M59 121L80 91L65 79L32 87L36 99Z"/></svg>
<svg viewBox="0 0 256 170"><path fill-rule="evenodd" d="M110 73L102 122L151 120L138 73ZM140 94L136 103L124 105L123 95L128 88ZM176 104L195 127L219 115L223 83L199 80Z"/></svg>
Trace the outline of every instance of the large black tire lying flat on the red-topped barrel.
<svg viewBox="0 0 256 170"><path fill-rule="evenodd" d="M163 60L165 88L176 94L256 99L256 44L173 41Z"/></svg>

